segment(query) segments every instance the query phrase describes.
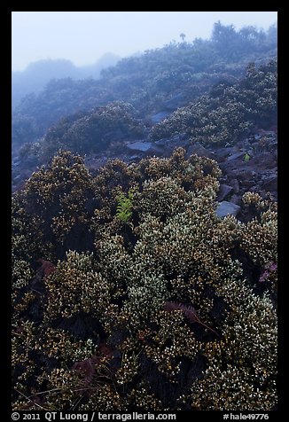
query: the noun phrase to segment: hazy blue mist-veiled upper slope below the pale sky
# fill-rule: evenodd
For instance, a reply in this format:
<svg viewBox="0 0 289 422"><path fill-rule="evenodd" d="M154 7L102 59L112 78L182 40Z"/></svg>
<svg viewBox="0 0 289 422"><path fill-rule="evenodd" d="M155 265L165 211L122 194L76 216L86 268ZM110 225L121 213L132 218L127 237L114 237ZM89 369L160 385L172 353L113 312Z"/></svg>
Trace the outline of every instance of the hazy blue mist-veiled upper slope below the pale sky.
<svg viewBox="0 0 289 422"><path fill-rule="evenodd" d="M236 31L217 23L210 40L169 43L162 49L121 59L116 66L105 67L98 80L51 80L39 93L22 98L15 108L12 147L42 137L51 124L69 113L88 111L115 100L128 101L142 118L168 114L189 104L215 83L236 83L245 76L248 63L260 66L276 57L276 26L265 33L254 27ZM63 63L75 74L70 62ZM91 73L91 69L86 72Z"/></svg>

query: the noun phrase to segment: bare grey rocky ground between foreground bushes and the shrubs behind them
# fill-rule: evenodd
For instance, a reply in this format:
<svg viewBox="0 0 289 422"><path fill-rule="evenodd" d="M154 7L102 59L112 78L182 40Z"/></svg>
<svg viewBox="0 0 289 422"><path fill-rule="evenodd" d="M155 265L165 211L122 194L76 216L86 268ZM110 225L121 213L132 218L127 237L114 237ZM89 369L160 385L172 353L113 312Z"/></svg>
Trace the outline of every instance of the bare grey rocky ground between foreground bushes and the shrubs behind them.
<svg viewBox="0 0 289 422"><path fill-rule="evenodd" d="M200 144L190 145L184 134L156 142L136 140L110 146L105 152L85 157L86 167L92 174L105 165L107 160L119 158L131 163L146 156L168 157L177 146L186 150L186 156L196 153L216 160L223 171L217 200L220 202L217 214L233 214L242 217L242 195L246 191L258 192L265 197L269 194L277 200L277 129L254 129L250 136L240 140L237 145L224 147L211 145L205 148ZM19 156L12 160L12 191L24 186L25 181L36 166L31 162L23 165ZM245 216L243 215L243 218Z"/></svg>

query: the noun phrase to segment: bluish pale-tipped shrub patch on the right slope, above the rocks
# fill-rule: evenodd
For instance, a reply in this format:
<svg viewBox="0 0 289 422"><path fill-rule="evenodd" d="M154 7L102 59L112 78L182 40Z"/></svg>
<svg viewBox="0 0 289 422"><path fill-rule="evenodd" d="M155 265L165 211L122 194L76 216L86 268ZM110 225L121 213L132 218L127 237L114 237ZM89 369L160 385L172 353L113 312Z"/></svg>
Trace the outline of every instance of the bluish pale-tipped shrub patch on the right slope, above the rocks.
<svg viewBox="0 0 289 422"><path fill-rule="evenodd" d="M231 85L218 83L207 96L176 110L151 131L153 140L180 132L191 142L234 143L254 125L269 128L277 123L277 62L247 66L246 77Z"/></svg>

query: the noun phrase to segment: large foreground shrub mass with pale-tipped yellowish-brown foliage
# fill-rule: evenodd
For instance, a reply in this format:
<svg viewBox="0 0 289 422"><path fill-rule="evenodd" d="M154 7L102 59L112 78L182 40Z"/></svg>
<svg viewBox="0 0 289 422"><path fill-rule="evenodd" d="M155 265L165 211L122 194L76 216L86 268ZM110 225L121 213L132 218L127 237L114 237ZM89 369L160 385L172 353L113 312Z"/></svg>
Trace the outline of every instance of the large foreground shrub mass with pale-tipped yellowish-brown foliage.
<svg viewBox="0 0 289 422"><path fill-rule="evenodd" d="M276 204L249 193L252 221L220 219L219 176L182 149L94 177L62 151L31 176L13 198L13 410L276 408Z"/></svg>

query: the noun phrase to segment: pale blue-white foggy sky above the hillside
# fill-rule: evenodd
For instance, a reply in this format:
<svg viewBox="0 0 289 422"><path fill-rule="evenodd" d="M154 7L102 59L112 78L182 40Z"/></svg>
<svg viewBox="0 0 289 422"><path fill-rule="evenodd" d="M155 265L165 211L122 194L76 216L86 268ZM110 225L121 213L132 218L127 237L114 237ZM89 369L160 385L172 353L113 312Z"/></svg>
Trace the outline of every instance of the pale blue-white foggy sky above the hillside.
<svg viewBox="0 0 289 422"><path fill-rule="evenodd" d="M12 70L40 59L95 63L106 52L127 57L173 40L209 38L214 23L268 29L277 12L12 12Z"/></svg>

